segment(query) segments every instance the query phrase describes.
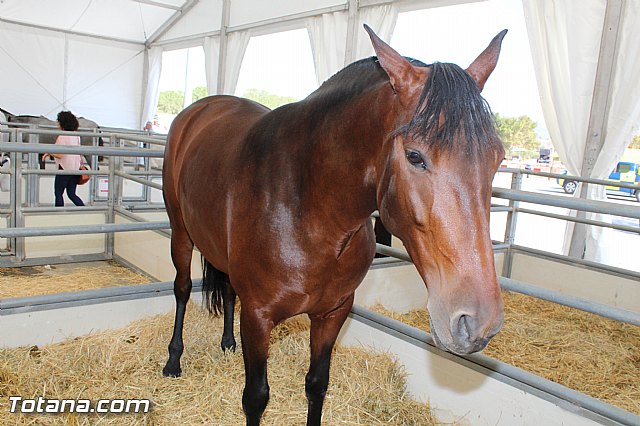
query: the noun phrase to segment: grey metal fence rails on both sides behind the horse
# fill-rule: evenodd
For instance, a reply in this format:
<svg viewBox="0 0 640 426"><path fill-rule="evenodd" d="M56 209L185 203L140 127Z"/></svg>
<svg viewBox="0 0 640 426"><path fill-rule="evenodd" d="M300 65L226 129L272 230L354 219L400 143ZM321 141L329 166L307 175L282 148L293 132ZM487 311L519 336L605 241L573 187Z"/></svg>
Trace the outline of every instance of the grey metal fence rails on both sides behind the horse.
<svg viewBox="0 0 640 426"><path fill-rule="evenodd" d="M129 133L124 133L97 129L91 129L90 131L82 130L77 132L64 132L47 128L35 128L34 125L21 125L15 123L8 124L12 125L12 127L8 129L0 129L0 133L8 134L10 142L0 142L0 151L10 153L11 170L0 171L0 173L9 173L11 176L11 196L9 205L7 207L2 208L0 206L0 215L4 215L9 218L8 229L0 230L0 238L10 239L9 250L5 250L4 254L6 255L8 253L11 253L14 255L12 264L20 264L24 260L24 253L21 250L21 243L25 237L36 235L54 235L53 232L56 232L55 235L62 235L61 233L63 232L63 229L60 228L56 229L55 231L54 229L48 228L42 228L38 230L25 229L25 215L61 211L103 211L107 215L106 223L114 226L110 226L109 228L101 228L101 225L95 225L83 227L82 229L87 233L105 232L107 234L107 246L105 249L105 254L107 257L110 257L113 250L113 232L120 232L120 229L125 229L124 227L116 226L116 224L114 223L116 211L130 211L134 208L157 210L163 209L164 206L162 205L162 203L153 203L150 196L152 189L162 189L162 185L159 183L161 172L159 169L154 170L150 165L150 161L154 158L161 158L163 156L163 152L162 150L153 150L149 148L152 146L162 147L166 143L165 135L151 136L140 131L131 131ZM38 144L38 138L40 135L65 134L92 137L94 146L68 147L50 144ZM98 146L99 138L104 142L105 146ZM24 143L26 141L28 141L29 143ZM107 161L102 162L101 170L64 172L58 170L40 170L38 168L37 155L42 153L81 154L91 158L93 164L98 164L99 157L107 158ZM140 168L142 168L142 170L132 170L132 167L125 168L126 157L134 157L139 159L139 161L142 161L136 163L140 166ZM129 166L131 166L131 164L129 164ZM491 207L491 211L493 213L507 213L504 239L502 241L494 242L495 250L505 252L504 268L502 271L502 275L505 277L510 277L512 252L515 247L514 242L519 214L532 214L552 219L561 219L580 224L595 225L640 234L640 227L638 226L620 225L609 223L606 221L586 219L580 215L562 215L540 210L533 210L521 207L520 203L527 202L536 205L554 206L581 212L609 214L640 220L640 208L636 205L621 205L607 201L584 200L573 197L527 192L522 190L523 176L534 175L547 178L566 178L566 175L505 168L499 169L499 172L510 173L512 175L510 188L494 187L493 189L493 197L506 200L508 204L492 205ZM54 209L51 206L40 204L40 177L52 176L57 174L90 174L96 177L96 179L91 179L89 183L90 188L89 200L87 203L88 206L67 208L58 207ZM589 184L611 184L611 181L607 180L585 179L579 177L572 177L571 179ZM140 187L142 189L141 194L135 197L125 196L123 194L124 180L129 180L131 182L140 184ZM102 185L103 187L99 188L99 185ZM621 187L633 188L640 191L640 186L638 185L625 183L616 183L616 185ZM23 192L25 194L24 200L21 197ZM106 196L104 194L106 194ZM161 228L161 225L166 225L168 227L167 222L162 222L161 224L158 224L156 226L159 227L158 229L165 229ZM140 225L140 229L143 229L142 225ZM126 230L130 231L132 229L127 228ZM75 233L75 231L73 229L69 229L69 234L72 233ZM6 260L3 260L3 258L6 259L6 256L0 257L0 265L3 263L8 263ZM582 262L589 266L594 266L588 261L579 262ZM609 268L606 265L599 264L596 264L595 266L600 266L601 268L608 269L610 271L615 270L616 272L618 272L619 269ZM640 274L638 273L629 271L629 274L635 278L640 278Z"/></svg>

